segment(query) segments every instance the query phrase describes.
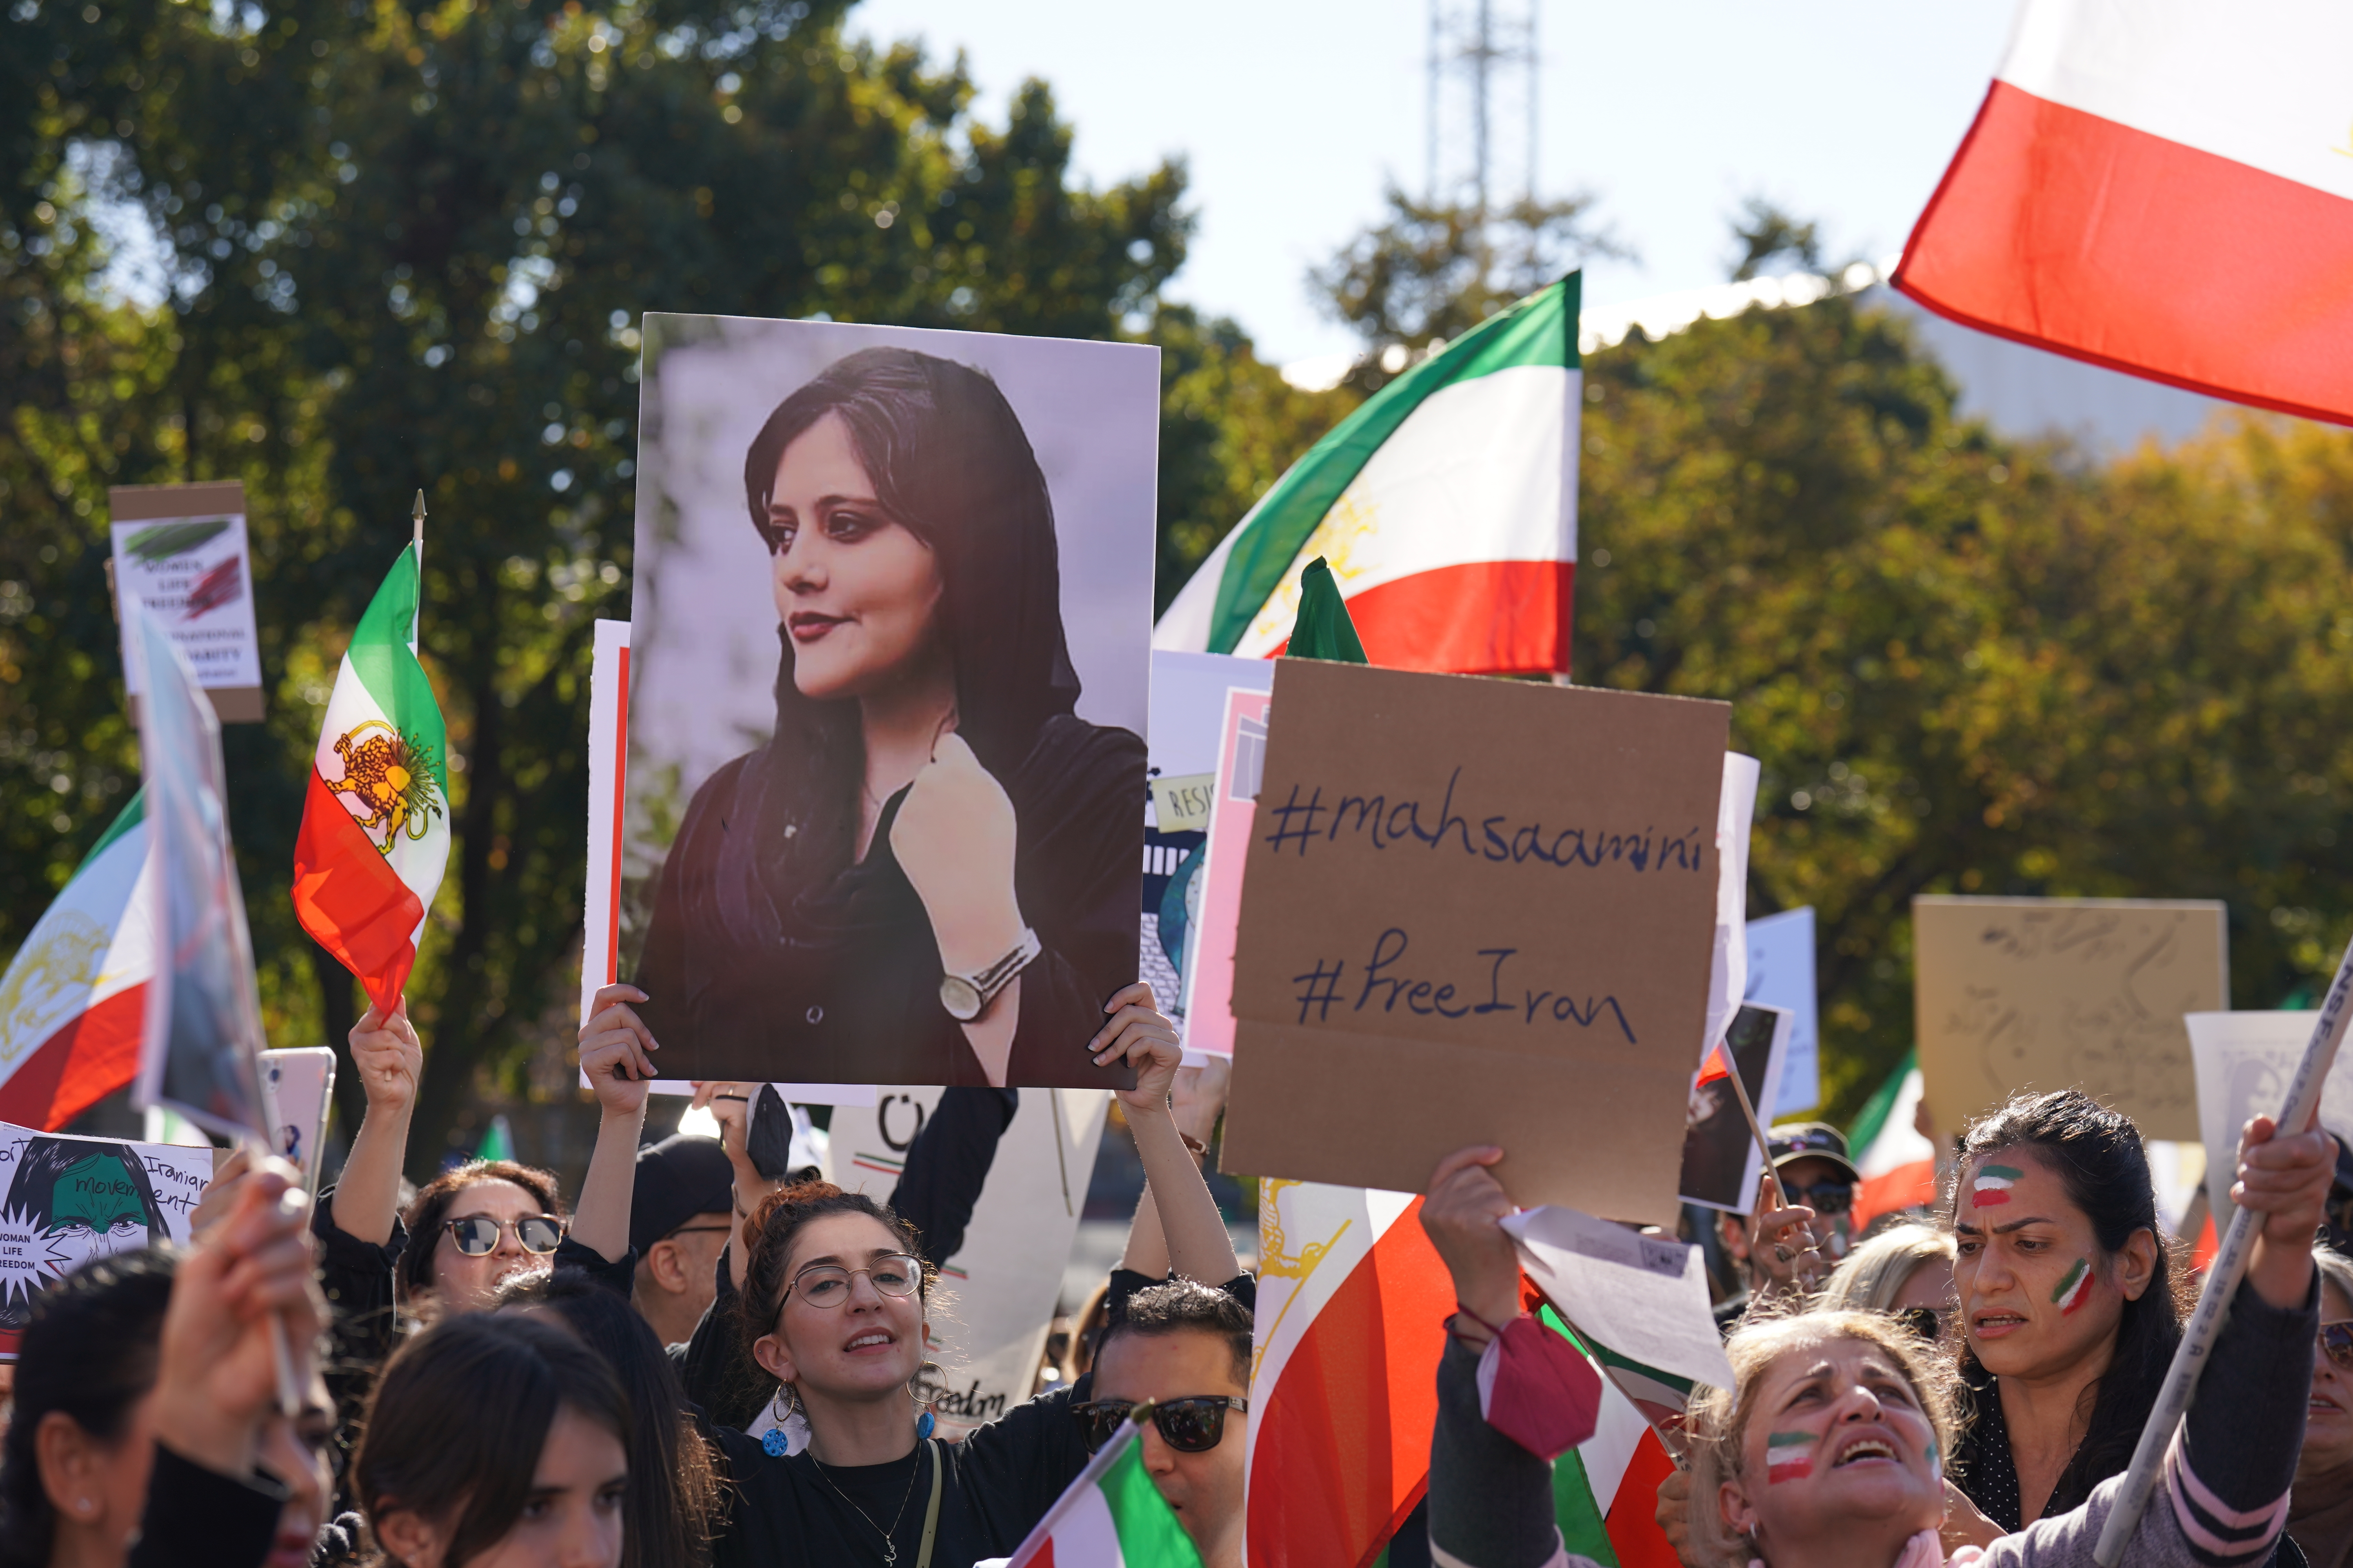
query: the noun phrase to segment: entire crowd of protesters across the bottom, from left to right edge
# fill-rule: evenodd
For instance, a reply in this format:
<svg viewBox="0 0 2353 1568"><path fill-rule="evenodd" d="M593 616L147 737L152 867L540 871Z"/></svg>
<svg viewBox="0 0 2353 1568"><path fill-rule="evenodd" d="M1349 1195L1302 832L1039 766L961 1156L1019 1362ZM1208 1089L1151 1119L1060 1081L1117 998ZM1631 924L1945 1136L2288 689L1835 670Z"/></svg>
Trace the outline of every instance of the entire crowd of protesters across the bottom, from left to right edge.
<svg viewBox="0 0 2353 1568"><path fill-rule="evenodd" d="M958 1441L927 1408L941 1262L1016 1091L946 1091L887 1199L762 1173L758 1084L696 1086L720 1138L645 1140L638 1001L609 987L581 1030L600 1131L569 1206L501 1159L405 1194L424 1048L369 1011L367 1114L315 1204L238 1154L191 1246L45 1293L0 1568L969 1568L1144 1401L1153 1483L1209 1568L1240 1566L1254 1281L1198 1164L1224 1077L1181 1070L1146 987L1085 1041L1136 1072L1127 1251L1045 1392ZM1755 1213L1718 1234L1744 1274L1718 1312L1734 1387L1694 1394L1657 1495L1680 1561L2089 1563L2193 1293L2132 1121L2073 1091L2014 1100L1958 1140L1934 1213L1861 1237L1831 1128L1772 1152ZM1433 1326L1426 1549L1574 1568L1553 1455L1482 1418L1499 1378L1567 1345L1525 1314L1499 1157L1449 1157L1421 1208L1459 1302ZM2353 1563L2353 1258L2315 1239L2346 1175L2327 1133L2247 1126L2252 1265L2125 1561Z"/></svg>

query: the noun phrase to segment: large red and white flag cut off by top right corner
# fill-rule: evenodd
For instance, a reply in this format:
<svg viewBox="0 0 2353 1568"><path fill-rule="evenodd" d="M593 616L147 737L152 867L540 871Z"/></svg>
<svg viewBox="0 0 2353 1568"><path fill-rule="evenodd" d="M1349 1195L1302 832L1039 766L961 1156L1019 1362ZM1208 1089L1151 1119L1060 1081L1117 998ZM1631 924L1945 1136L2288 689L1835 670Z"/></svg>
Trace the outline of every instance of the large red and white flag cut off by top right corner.
<svg viewBox="0 0 2353 1568"><path fill-rule="evenodd" d="M2026 0L1894 284L1969 327L2353 423L2353 7Z"/></svg>

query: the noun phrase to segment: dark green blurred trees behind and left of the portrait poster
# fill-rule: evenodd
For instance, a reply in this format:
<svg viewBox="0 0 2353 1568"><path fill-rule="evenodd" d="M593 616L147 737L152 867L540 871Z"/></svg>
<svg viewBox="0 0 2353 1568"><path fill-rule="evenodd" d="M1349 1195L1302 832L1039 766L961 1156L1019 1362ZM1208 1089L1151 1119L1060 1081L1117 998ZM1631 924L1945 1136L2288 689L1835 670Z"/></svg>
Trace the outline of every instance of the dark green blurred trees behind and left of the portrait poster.
<svg viewBox="0 0 2353 1568"><path fill-rule="evenodd" d="M520 1091L544 1020L569 1034L588 625L628 616L638 313L1144 336L1184 261L1179 165L1089 190L1045 85L981 122L960 63L854 42L842 12L0 14L0 952L136 785L106 487L242 477L273 698L226 736L233 830L273 1039L341 1041L353 985L294 926L287 867L336 658L424 487L456 837L414 994L416 1168L464 1140L478 1088ZM1172 336L1193 386L1172 515L1214 517L1228 465L1280 465L1217 404L1280 383L1231 329Z"/></svg>

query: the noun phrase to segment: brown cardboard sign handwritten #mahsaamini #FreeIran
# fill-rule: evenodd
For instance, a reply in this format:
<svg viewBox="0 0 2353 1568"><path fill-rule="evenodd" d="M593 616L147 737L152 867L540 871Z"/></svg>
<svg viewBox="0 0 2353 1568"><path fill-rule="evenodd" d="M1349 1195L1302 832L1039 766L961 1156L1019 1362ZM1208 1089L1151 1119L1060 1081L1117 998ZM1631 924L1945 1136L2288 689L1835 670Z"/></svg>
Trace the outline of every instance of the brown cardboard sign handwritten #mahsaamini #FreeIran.
<svg viewBox="0 0 2353 1568"><path fill-rule="evenodd" d="M1419 1192L1440 1157L1497 1143L1520 1204L1673 1225L1729 717L1285 658L1226 1168Z"/></svg>

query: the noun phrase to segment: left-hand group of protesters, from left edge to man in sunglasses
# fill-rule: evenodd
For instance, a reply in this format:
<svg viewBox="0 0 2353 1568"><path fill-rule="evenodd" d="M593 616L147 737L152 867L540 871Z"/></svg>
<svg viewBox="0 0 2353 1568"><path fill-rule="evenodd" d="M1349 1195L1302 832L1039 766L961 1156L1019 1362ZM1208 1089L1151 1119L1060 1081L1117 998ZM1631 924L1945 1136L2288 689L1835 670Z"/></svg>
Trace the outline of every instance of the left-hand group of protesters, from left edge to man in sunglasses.
<svg viewBox="0 0 2353 1568"><path fill-rule="evenodd" d="M186 1248L45 1293L0 1568L969 1568L1014 1552L1141 1401L1146 1472L1202 1561L1240 1566L1254 1284L1193 1133L1224 1072L1181 1070L1144 985L1073 1041L1134 1070L1148 1180L1094 1333L953 1443L927 1410L929 1321L1016 1091L946 1091L887 1199L762 1175L758 1084L696 1086L715 1140L642 1140L659 1041L638 1001L609 987L581 1030L602 1121L569 1206L508 1159L405 1194L424 1046L405 1009L372 1009L351 1034L367 1112L315 1204L240 1152Z"/></svg>

